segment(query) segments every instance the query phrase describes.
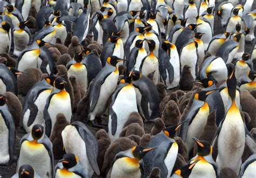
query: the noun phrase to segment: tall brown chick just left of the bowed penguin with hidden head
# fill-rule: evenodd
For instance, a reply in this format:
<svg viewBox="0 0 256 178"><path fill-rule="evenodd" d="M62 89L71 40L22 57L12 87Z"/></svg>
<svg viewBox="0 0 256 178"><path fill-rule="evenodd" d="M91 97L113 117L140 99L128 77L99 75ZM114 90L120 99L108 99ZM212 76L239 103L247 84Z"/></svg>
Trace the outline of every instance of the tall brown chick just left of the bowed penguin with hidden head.
<svg viewBox="0 0 256 178"><path fill-rule="evenodd" d="M53 126L52 134L50 137L53 149L53 156L55 159L62 159L62 156L65 154L63 149L63 140L62 140L62 131L70 123L66 120L63 113L58 113L56 116L56 122Z"/></svg>

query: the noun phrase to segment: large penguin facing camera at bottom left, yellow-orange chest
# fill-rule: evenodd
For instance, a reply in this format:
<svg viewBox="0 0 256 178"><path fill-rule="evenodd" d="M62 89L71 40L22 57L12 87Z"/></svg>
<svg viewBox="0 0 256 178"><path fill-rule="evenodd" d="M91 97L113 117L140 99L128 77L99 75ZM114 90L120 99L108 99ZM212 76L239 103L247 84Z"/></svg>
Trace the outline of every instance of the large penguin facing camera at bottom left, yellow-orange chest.
<svg viewBox="0 0 256 178"><path fill-rule="evenodd" d="M31 165L41 177L53 177L52 143L44 134L44 127L36 124L22 137L17 171L22 165Z"/></svg>

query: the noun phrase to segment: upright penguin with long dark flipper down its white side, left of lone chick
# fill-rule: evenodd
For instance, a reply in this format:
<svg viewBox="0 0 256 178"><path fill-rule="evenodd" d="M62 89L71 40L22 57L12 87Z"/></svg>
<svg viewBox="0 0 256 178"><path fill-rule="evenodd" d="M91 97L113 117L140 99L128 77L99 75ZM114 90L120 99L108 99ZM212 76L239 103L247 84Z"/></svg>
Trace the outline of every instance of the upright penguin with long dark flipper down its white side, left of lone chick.
<svg viewBox="0 0 256 178"><path fill-rule="evenodd" d="M175 88L180 81L180 60L177 48L169 41L164 41L160 49L160 72L167 89Z"/></svg>

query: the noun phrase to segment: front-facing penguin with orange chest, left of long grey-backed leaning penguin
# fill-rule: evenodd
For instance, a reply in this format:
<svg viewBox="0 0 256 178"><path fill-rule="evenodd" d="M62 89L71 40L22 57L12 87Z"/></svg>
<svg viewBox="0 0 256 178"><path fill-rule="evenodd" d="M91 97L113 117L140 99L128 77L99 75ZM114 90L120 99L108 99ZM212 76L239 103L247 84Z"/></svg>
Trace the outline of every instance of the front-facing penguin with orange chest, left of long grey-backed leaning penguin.
<svg viewBox="0 0 256 178"><path fill-rule="evenodd" d="M67 63L66 69L68 69L68 77L75 75L80 89L86 91L89 83L87 81L87 67L83 61L82 51L77 52L72 61Z"/></svg>

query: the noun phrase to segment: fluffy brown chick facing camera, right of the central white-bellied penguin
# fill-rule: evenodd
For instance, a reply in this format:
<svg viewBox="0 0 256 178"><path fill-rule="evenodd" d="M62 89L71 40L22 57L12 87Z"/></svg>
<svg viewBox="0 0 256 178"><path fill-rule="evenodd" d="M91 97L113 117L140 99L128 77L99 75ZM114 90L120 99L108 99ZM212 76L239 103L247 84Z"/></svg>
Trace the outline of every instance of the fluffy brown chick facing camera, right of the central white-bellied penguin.
<svg viewBox="0 0 256 178"><path fill-rule="evenodd" d="M174 101L169 101L162 113L161 119L164 120L165 126L173 126L180 122L179 107Z"/></svg>

